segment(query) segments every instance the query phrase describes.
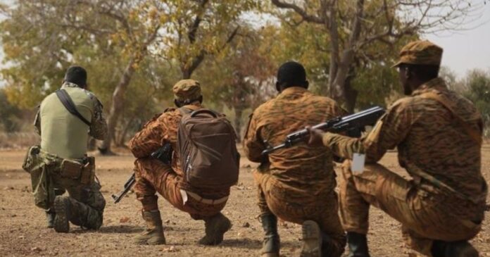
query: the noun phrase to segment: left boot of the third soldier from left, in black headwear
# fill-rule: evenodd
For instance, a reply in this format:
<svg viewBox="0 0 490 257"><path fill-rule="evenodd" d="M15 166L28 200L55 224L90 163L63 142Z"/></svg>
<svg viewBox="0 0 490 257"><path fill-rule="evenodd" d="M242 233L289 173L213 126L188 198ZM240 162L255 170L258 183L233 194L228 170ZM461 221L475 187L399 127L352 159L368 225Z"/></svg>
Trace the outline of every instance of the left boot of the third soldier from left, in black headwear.
<svg viewBox="0 0 490 257"><path fill-rule="evenodd" d="M260 215L260 222L265 232L260 254L262 257L279 257L281 240L277 234L277 217L272 213Z"/></svg>

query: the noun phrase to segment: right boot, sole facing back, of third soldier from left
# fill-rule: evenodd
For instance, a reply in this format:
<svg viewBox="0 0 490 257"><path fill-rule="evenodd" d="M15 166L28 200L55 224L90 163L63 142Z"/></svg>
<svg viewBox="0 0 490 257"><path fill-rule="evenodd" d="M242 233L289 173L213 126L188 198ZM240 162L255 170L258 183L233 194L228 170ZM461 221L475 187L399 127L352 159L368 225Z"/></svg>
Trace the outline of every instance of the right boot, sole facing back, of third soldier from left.
<svg viewBox="0 0 490 257"><path fill-rule="evenodd" d="M320 257L322 256L322 232L317 222L306 220L301 227L303 232L303 246L301 247L301 257Z"/></svg>

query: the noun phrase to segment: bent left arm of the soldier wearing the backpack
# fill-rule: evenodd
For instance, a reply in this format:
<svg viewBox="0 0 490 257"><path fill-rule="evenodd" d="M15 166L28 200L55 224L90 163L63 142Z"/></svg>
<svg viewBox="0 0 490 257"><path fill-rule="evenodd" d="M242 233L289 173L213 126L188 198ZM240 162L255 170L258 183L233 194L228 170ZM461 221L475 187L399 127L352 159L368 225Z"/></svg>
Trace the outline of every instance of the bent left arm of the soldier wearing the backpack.
<svg viewBox="0 0 490 257"><path fill-rule="evenodd" d="M159 118L161 115L166 115L166 113L155 115L130 140L129 147L134 157L148 157L167 142L165 125L161 120L163 117Z"/></svg>

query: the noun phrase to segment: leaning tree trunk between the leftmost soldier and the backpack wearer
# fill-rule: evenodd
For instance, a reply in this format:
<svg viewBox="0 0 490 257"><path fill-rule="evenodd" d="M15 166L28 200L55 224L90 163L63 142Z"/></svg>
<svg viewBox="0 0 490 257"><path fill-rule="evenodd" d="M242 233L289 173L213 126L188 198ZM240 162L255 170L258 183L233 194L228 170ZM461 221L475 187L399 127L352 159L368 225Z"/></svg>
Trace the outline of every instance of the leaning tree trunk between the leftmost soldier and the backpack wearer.
<svg viewBox="0 0 490 257"><path fill-rule="evenodd" d="M134 74L134 63L136 58L132 57L130 62L127 64L124 73L114 89L111 111L107 118L107 135L106 139L103 140L101 146L99 146L99 152L101 154L111 154L111 143L115 133L115 127L118 125L118 118L120 116L122 106L124 106L124 96L127 86L131 82L132 75Z"/></svg>

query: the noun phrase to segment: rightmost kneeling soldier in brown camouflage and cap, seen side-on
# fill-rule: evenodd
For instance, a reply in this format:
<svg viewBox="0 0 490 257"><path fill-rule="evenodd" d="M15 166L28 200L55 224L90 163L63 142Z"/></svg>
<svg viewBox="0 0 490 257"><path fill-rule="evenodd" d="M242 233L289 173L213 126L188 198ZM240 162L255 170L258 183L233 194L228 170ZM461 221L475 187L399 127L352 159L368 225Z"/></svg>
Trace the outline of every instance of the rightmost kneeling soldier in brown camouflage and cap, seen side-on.
<svg viewBox="0 0 490 257"><path fill-rule="evenodd" d="M369 256L369 207L402 224L408 246L427 256L478 256L467 241L481 230L487 186L480 171L482 118L440 77L442 49L416 41L401 49L407 97L396 101L360 139L313 131L310 144L348 158L340 182L340 213L349 256ZM412 180L377 164L388 149ZM363 159L365 159L365 163Z"/></svg>

